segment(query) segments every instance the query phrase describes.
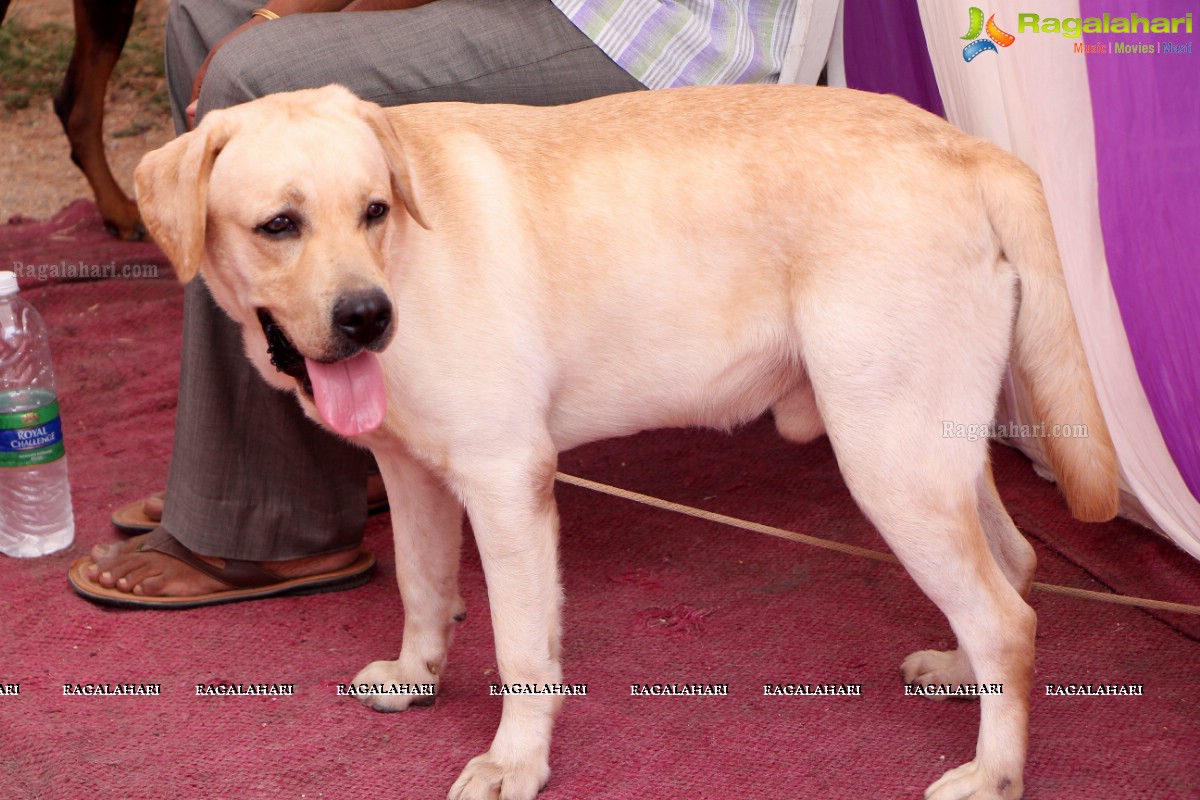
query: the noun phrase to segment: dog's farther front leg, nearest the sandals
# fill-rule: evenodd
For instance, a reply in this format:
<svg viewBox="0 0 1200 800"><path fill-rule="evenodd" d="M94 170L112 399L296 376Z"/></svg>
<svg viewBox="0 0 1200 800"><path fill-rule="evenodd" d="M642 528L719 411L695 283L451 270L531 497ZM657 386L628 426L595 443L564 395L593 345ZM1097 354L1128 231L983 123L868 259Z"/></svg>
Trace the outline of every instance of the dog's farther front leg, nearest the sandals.
<svg viewBox="0 0 1200 800"><path fill-rule="evenodd" d="M403 711L433 702L455 625L466 614L458 594L462 505L403 450L376 452L376 461L391 507L404 636L398 658L367 664L354 684L367 685L358 697L377 711Z"/></svg>

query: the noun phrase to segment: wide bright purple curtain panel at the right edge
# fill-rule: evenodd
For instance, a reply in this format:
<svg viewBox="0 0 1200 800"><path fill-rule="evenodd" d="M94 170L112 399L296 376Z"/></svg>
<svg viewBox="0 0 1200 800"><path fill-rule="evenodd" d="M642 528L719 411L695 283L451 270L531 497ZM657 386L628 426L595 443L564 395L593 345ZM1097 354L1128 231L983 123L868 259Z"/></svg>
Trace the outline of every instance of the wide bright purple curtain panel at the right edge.
<svg viewBox="0 0 1200 800"><path fill-rule="evenodd" d="M1120 11L1100 0L1080 5L1085 18L1196 10L1183 0L1133 0ZM1200 53L1189 52L1200 48L1180 31L1085 34L1090 44L1152 52L1075 58L1087 59L1112 289L1163 439L1200 500Z"/></svg>

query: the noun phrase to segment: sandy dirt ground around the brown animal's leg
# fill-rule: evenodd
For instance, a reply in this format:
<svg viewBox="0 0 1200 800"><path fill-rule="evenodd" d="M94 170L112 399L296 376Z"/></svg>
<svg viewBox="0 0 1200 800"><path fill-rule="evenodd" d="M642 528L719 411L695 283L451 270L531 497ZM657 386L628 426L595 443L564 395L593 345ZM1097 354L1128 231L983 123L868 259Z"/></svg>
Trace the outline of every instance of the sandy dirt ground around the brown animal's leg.
<svg viewBox="0 0 1200 800"><path fill-rule="evenodd" d="M133 24L162 31L166 16L167 0L142 0ZM12 19L28 26L48 22L73 26L71 0L13 0L5 24ZM143 97L115 83L109 84L104 146L113 174L132 196L138 160L174 133L167 114L145 109ZM71 163L50 96L20 112L0 112L0 224L14 216L44 219L72 200L91 197L83 173Z"/></svg>

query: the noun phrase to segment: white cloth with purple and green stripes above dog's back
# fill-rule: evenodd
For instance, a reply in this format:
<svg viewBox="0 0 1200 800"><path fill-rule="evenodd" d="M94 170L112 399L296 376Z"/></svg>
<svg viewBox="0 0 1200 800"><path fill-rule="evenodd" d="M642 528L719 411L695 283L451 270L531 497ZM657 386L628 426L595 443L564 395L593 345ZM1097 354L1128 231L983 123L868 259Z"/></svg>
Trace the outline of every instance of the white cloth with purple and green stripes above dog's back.
<svg viewBox="0 0 1200 800"><path fill-rule="evenodd" d="M798 0L553 0L649 89L778 83Z"/></svg>

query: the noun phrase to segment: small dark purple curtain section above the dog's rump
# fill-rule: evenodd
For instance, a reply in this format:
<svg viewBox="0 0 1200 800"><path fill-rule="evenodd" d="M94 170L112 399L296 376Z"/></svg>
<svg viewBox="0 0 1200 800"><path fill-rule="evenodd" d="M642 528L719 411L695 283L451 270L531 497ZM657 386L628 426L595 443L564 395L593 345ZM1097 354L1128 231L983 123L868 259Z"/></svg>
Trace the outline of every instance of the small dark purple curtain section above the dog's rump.
<svg viewBox="0 0 1200 800"><path fill-rule="evenodd" d="M900 95L946 116L916 0L847 0L842 23L851 89Z"/></svg>

